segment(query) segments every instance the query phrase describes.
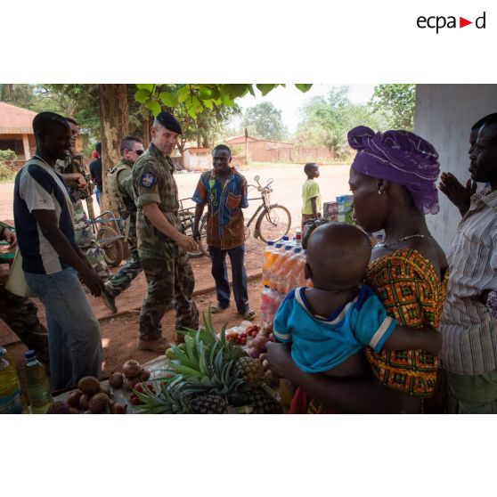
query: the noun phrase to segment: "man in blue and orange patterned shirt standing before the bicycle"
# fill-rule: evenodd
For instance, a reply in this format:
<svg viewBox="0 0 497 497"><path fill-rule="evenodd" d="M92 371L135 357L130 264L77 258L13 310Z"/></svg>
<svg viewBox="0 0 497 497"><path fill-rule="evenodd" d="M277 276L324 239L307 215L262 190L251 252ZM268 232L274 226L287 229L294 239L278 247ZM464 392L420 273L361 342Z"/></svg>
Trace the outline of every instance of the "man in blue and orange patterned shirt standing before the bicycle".
<svg viewBox="0 0 497 497"><path fill-rule="evenodd" d="M230 284L226 271L226 254L232 263L233 294L239 314L253 319L256 313L248 306L245 256L245 225L242 208L248 208L247 180L238 173L232 162L232 151L217 145L212 151L214 168L200 176L192 200L197 203L193 234L200 240L199 223L204 206L208 206L207 243L212 261L212 276L216 281L216 314L230 306Z"/></svg>

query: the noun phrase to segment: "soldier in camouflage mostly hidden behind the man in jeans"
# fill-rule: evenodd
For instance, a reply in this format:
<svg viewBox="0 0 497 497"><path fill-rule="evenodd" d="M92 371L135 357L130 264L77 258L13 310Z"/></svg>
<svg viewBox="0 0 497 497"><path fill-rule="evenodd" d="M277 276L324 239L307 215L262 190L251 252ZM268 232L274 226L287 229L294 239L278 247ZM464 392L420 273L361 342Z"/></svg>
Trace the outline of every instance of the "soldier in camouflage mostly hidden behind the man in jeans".
<svg viewBox="0 0 497 497"><path fill-rule="evenodd" d="M83 157L81 155L74 154L74 147L76 144L77 137L77 123L73 119L66 118L69 121L71 128L71 134L73 139L71 140L72 151L69 151L65 162L58 161L58 168L62 175L75 175L80 174L88 179L88 175L83 164ZM90 186L88 184L87 191L81 190L77 187L69 187L70 197L72 200L72 205L74 208L74 235L76 239L77 246L81 248L81 251L85 255L88 263L94 269L103 281L109 280L111 273L109 266L103 258L103 250L99 247L94 232L91 226L88 224L88 217L86 216L85 209L83 208L83 200L89 199L86 202L90 216L94 217L93 201L90 191ZM105 302L105 298L104 298ZM107 305L107 303L106 303Z"/></svg>

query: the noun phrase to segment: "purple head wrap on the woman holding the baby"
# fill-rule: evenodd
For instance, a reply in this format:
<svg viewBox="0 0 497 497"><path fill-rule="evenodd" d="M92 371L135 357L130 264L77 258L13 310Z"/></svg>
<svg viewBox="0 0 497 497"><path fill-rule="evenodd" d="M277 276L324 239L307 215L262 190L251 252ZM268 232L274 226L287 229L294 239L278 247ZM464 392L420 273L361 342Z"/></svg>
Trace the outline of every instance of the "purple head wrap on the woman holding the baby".
<svg viewBox="0 0 497 497"><path fill-rule="evenodd" d="M357 151L352 167L357 173L402 184L423 214L438 212L436 179L440 173L438 152L426 140L409 131L374 133L357 126L347 135Z"/></svg>

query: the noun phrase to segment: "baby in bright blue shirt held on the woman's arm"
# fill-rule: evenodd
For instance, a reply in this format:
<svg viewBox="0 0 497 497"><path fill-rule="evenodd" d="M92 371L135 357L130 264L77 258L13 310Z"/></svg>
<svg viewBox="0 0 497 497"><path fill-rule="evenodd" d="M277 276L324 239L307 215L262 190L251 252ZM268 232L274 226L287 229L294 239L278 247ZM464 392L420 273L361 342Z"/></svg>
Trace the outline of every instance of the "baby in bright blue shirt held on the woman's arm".
<svg viewBox="0 0 497 497"><path fill-rule="evenodd" d="M370 259L371 242L359 228L328 223L314 230L305 269L314 288L291 290L273 322L274 338L291 343L300 370L360 376L367 368L364 346L438 354L440 333L397 326L363 284Z"/></svg>

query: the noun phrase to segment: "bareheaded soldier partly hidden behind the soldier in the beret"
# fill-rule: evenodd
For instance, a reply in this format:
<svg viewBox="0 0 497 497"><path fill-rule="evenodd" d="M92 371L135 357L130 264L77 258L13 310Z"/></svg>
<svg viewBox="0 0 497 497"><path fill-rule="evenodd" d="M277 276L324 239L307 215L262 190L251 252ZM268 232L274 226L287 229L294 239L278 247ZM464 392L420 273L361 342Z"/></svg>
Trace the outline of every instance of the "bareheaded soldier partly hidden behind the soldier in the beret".
<svg viewBox="0 0 497 497"><path fill-rule="evenodd" d="M119 216L126 220L125 236L130 256L118 273L105 283L107 299L114 306L116 305L115 298L127 289L131 281L143 271L136 240L136 205L131 176L134 162L144 151L142 139L136 136L126 136L121 141L120 151L121 161L107 173L107 195L110 208L118 211Z"/></svg>

